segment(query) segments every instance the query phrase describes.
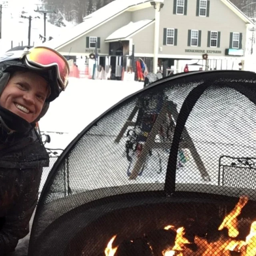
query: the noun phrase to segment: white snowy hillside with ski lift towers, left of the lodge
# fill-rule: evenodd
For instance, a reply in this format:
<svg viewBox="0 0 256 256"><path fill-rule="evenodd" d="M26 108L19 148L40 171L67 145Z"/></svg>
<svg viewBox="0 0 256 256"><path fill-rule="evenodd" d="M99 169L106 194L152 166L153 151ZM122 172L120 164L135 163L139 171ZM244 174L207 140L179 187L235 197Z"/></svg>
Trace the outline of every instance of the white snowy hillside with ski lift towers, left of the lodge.
<svg viewBox="0 0 256 256"><path fill-rule="evenodd" d="M0 54L3 54L11 48L20 45L28 45L28 18L21 18L22 16L32 17L31 22L31 45L42 44L44 36L44 14L35 12L37 9L36 4L42 4L39 0L22 0L22 1L4 1L2 8L2 39L0 39ZM70 29L73 25L65 22L66 27L58 27L46 21L46 38L50 36L55 38L63 33L65 30Z"/></svg>

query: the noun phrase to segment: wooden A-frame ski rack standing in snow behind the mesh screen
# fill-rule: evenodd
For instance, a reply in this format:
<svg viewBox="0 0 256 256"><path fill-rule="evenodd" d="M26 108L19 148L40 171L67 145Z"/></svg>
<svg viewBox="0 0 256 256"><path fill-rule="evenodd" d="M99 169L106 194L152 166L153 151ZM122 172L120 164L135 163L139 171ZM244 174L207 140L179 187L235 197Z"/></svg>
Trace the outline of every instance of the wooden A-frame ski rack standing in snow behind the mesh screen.
<svg viewBox="0 0 256 256"><path fill-rule="evenodd" d="M129 126L135 126L135 122L132 122L132 120L136 115L136 113L138 112L138 110L139 110L139 107L135 106L130 116L127 118L124 126L120 130L118 136L116 137L116 140L115 140L116 143L120 142L121 138L124 136L124 133L126 132ZM172 116L175 122L177 122L179 113L177 110L177 105L174 102L164 100L162 109L160 110L160 113L158 114L156 121L154 122L152 129L148 135L148 138L142 148L142 152L140 153L140 158L138 158L137 162L134 165L134 168L130 175L130 179L134 180L137 178L138 174L140 173L140 169L142 168L144 162L146 161L147 154L151 148L164 148L164 149L171 148L172 141L155 142L156 135L160 130L161 124L166 118L166 114L169 114L170 116ZM182 137L183 137L183 140L180 142L180 145L182 146L182 148L187 148L188 150L190 150L190 153L196 163L198 170L200 171L202 178L207 177L208 172L206 171L204 163L202 162L202 159L198 154L196 147L194 145L194 142L190 137L190 135L188 134L186 127L184 127L184 130L182 132Z"/></svg>

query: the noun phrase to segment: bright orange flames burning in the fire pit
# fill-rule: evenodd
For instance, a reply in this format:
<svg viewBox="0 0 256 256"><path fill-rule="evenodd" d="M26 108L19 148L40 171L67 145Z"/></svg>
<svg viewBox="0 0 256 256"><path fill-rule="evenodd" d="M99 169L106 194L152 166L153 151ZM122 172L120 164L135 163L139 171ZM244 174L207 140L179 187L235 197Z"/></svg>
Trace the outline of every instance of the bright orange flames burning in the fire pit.
<svg viewBox="0 0 256 256"><path fill-rule="evenodd" d="M162 251L162 256L186 256L186 255L194 255L194 256L230 256L231 252L237 252L240 256L256 256L256 220L252 222L250 226L250 233L246 236L245 240L235 240L239 235L239 220L238 216L241 214L242 209L248 203L247 196L240 196L237 204L234 209L224 216L224 219L218 230L224 230L226 228L228 230L228 236L224 233L220 233L220 237L217 241L208 242L206 238L199 237L195 235L194 241L190 242L186 237L185 228L179 227L176 228L173 225L168 225L164 227L164 230L172 230L175 235L175 239L172 240L172 245L167 245L168 248L160 249ZM175 234L176 233L176 234ZM111 238L108 242L108 246L105 249L106 256L114 256L118 246L112 248L112 244L116 238L116 235ZM130 242L133 242L130 240ZM174 245L173 245L174 242ZM154 246L147 243L150 247L151 251L154 251ZM196 252L193 252L187 244L196 245ZM158 254L157 254L158 255Z"/></svg>

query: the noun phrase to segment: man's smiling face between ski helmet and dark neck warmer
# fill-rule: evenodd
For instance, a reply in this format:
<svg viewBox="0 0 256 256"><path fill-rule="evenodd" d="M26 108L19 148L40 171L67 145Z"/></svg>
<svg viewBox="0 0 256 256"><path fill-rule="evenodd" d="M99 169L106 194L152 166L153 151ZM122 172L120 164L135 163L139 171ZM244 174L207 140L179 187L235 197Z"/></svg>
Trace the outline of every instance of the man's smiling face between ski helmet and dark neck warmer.
<svg viewBox="0 0 256 256"><path fill-rule="evenodd" d="M49 88L34 72L15 72L4 88L0 105L32 123L42 111Z"/></svg>

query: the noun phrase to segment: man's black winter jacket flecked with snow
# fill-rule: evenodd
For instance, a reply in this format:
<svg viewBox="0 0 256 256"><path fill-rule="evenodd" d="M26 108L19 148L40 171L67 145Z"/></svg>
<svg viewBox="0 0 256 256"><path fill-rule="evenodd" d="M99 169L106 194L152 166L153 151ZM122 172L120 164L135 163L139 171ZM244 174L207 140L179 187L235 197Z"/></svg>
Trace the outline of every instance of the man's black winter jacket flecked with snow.
<svg viewBox="0 0 256 256"><path fill-rule="evenodd" d="M42 167L49 156L33 129L15 143L0 144L0 255L13 252L29 232Z"/></svg>

